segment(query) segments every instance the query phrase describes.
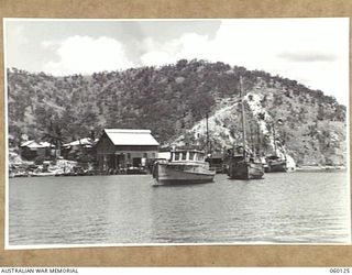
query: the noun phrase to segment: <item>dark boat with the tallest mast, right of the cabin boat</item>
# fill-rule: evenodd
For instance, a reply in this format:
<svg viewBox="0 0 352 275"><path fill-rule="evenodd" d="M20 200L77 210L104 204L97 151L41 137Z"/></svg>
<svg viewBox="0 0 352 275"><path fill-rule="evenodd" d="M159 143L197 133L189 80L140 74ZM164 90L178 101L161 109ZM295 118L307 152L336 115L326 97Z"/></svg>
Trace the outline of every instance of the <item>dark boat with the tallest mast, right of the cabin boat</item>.
<svg viewBox="0 0 352 275"><path fill-rule="evenodd" d="M246 148L245 135L245 113L242 97L242 77L240 77L240 98L242 117L242 146L238 146L237 153L232 152L228 162L228 176L231 179L256 179L263 178L264 167L260 160L249 154Z"/></svg>

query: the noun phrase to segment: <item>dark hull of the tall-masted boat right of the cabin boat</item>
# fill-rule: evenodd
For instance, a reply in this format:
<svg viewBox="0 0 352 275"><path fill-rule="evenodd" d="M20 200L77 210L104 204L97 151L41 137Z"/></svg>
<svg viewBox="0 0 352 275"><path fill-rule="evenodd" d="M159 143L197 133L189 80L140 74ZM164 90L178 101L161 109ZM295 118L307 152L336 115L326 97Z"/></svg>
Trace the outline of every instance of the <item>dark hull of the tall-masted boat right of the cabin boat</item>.
<svg viewBox="0 0 352 275"><path fill-rule="evenodd" d="M230 163L228 176L231 179L261 179L264 175L263 164L261 163Z"/></svg>

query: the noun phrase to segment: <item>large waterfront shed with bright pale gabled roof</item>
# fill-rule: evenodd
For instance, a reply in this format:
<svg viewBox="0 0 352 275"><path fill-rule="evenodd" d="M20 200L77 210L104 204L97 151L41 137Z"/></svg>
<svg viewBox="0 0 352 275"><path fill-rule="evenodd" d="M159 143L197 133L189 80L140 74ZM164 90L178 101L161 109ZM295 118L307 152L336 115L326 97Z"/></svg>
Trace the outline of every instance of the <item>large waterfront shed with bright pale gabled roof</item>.
<svg viewBox="0 0 352 275"><path fill-rule="evenodd" d="M157 148L150 130L105 129L96 145L97 162L102 170L146 166Z"/></svg>

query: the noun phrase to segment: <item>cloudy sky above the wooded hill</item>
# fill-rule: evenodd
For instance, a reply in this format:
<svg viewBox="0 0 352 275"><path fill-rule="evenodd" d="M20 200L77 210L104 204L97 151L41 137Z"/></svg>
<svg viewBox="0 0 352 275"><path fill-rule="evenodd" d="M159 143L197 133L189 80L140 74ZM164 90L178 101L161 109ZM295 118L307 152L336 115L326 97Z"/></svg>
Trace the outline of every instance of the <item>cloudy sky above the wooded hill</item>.
<svg viewBox="0 0 352 275"><path fill-rule="evenodd" d="M349 102L346 18L4 23L8 68L86 75L197 58L265 70Z"/></svg>

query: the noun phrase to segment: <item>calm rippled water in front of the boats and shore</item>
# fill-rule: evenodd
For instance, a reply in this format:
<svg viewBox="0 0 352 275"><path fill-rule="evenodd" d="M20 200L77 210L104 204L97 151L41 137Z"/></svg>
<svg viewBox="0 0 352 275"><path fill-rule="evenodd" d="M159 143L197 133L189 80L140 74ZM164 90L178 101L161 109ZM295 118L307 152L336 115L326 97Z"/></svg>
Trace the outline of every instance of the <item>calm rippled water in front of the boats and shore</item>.
<svg viewBox="0 0 352 275"><path fill-rule="evenodd" d="M9 243L345 243L345 175L161 187L150 175L11 178Z"/></svg>

